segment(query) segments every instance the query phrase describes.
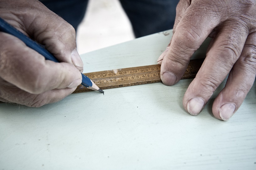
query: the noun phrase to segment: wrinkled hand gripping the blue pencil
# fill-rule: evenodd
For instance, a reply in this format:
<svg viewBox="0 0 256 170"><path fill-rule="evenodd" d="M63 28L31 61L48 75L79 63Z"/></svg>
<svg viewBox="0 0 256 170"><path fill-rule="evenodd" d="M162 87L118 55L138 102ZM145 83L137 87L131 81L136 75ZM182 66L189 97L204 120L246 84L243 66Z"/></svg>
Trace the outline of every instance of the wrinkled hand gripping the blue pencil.
<svg viewBox="0 0 256 170"><path fill-rule="evenodd" d="M83 62L70 24L37 0L0 0L0 17L61 62L45 60L18 38L0 32L0 101L40 107L81 84Z"/></svg>

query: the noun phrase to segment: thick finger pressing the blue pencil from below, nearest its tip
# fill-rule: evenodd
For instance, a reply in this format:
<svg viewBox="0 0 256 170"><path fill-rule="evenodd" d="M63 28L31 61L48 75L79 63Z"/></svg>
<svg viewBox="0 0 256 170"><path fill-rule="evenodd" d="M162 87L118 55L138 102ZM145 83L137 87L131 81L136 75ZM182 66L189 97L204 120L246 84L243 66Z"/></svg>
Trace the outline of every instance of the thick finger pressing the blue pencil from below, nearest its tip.
<svg viewBox="0 0 256 170"><path fill-rule="evenodd" d="M0 77L34 94L55 88L74 88L81 73L69 63L55 63L27 47L18 38L0 33Z"/></svg>

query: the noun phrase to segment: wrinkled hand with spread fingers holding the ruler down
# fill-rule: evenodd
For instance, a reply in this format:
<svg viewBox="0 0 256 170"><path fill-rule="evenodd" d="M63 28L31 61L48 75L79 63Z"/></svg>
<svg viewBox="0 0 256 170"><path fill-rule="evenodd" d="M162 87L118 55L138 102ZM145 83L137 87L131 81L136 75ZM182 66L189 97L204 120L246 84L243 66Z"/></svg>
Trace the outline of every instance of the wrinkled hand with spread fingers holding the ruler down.
<svg viewBox="0 0 256 170"><path fill-rule="evenodd" d="M229 74L212 106L214 116L228 120L241 106L256 75L255 0L180 0L167 49L158 58L165 85L177 83L192 54L212 37L206 58L189 85L183 106L198 115Z"/></svg>

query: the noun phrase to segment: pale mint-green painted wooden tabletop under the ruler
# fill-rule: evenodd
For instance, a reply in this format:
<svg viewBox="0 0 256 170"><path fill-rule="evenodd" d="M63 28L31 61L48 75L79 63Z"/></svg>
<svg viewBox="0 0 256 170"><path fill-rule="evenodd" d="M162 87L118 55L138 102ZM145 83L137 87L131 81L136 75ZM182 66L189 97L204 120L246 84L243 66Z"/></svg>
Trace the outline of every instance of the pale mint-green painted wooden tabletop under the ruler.
<svg viewBox="0 0 256 170"><path fill-rule="evenodd" d="M172 31L82 55L84 72L156 64ZM0 103L0 170L256 169L255 83L227 122L184 111L192 80L71 94L40 108ZM217 92L224 84L217 89Z"/></svg>

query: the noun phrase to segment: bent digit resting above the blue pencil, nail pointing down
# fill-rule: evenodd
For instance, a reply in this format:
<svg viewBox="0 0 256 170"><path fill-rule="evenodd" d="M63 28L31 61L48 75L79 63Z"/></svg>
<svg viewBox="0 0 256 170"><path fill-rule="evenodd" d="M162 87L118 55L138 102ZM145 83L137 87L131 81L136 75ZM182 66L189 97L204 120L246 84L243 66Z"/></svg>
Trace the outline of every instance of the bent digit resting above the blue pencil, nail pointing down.
<svg viewBox="0 0 256 170"><path fill-rule="evenodd" d="M47 24L42 25L40 20L34 20L30 26L36 28L32 32L36 41L45 45L60 62L72 63L79 71L83 71L83 62L76 50L75 29L55 13L49 15L54 19L49 21L46 15L40 19L47 21Z"/></svg>

